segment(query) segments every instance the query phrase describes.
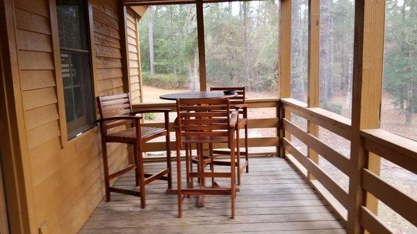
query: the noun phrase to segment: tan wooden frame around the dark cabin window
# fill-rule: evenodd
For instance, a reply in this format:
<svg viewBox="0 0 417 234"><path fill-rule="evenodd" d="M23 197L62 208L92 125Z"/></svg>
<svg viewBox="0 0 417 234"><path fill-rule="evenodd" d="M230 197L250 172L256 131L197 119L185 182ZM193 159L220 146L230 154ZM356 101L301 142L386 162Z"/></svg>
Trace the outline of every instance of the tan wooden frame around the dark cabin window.
<svg viewBox="0 0 417 234"><path fill-rule="evenodd" d="M97 97L98 90L97 90L97 67L95 61L95 53L93 53L94 41L94 31L92 28L94 26L93 18L92 18L92 5L90 0L85 0L85 12L84 12L84 23L85 23L85 37L87 40L87 47L88 47L88 60L90 62L90 78L91 78L91 94L92 94L92 106L94 108L94 118L97 119L97 103L95 101L95 97ZM56 0L49 0L49 13L51 15L51 40L53 45L53 53L54 53L54 73L56 77L56 92L58 97L58 113L59 113L59 123L60 123L60 141L61 141L61 148L67 147L68 144L73 142L74 140L83 138L85 135L90 135L90 133L97 132L97 123L93 124L92 126L84 126L84 128L79 128L81 131L81 135L76 135L72 138L68 135L68 123L67 117L65 113L65 98L64 98L64 85L63 85L63 74L60 62L60 50L65 49L66 51L77 51L78 49L69 49L66 47L60 47L59 42L59 34L58 34L58 15L56 12ZM81 50L83 51L83 50Z"/></svg>

